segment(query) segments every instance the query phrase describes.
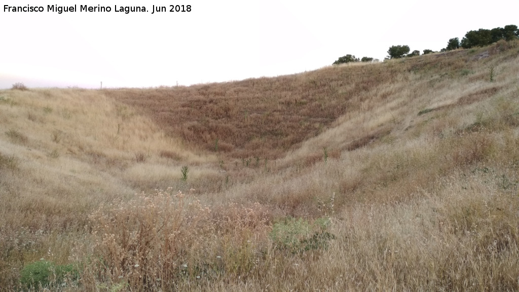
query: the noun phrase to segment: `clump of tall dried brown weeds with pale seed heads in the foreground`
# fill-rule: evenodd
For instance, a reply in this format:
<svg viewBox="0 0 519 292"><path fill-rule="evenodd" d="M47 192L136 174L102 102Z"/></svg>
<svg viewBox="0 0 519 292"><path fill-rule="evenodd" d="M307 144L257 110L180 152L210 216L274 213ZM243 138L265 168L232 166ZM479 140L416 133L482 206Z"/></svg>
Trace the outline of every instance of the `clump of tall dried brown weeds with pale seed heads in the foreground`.
<svg viewBox="0 0 519 292"><path fill-rule="evenodd" d="M265 238L268 229L268 212L259 204L211 209L185 196L171 189L143 193L93 213L96 258L87 263L85 276L125 281L141 290L171 290L175 282L201 276L248 273L257 238ZM244 241L251 243L243 246Z"/></svg>

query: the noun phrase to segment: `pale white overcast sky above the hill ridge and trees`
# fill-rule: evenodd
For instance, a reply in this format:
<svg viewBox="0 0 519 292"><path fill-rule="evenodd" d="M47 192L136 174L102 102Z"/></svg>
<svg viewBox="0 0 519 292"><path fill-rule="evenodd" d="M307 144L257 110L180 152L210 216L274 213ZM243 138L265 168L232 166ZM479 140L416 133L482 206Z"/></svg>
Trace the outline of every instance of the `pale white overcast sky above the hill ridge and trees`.
<svg viewBox="0 0 519 292"><path fill-rule="evenodd" d="M47 5L111 12L47 12ZM148 12L116 12L120 5ZM156 12L152 5L191 5ZM7 12L43 6L44 12ZM0 7L0 88L154 87L315 70L352 54L380 60L391 45L440 50L470 30L519 25L518 0L19 1Z"/></svg>

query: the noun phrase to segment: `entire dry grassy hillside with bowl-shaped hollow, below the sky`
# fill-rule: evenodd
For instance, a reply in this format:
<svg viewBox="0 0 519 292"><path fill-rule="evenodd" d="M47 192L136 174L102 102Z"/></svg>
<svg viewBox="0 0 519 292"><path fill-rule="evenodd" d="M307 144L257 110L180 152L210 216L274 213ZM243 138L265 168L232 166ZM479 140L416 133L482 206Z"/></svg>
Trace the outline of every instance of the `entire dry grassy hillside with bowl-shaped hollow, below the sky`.
<svg viewBox="0 0 519 292"><path fill-rule="evenodd" d="M518 50L2 91L0 287L44 257L81 263L86 290L519 289ZM293 254L268 236L287 216L309 222L296 242L327 217L335 239Z"/></svg>

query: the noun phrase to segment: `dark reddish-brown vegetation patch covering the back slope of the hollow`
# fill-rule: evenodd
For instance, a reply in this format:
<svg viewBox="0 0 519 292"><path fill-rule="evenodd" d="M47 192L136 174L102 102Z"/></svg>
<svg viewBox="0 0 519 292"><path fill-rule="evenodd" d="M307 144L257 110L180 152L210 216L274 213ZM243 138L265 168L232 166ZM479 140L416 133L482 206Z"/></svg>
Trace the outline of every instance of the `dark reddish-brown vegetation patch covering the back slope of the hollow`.
<svg viewBox="0 0 519 292"><path fill-rule="evenodd" d="M317 136L337 117L358 110L397 76L389 66L326 68L306 74L234 83L107 90L141 108L192 147L234 157L279 157ZM216 142L217 141L217 142Z"/></svg>

